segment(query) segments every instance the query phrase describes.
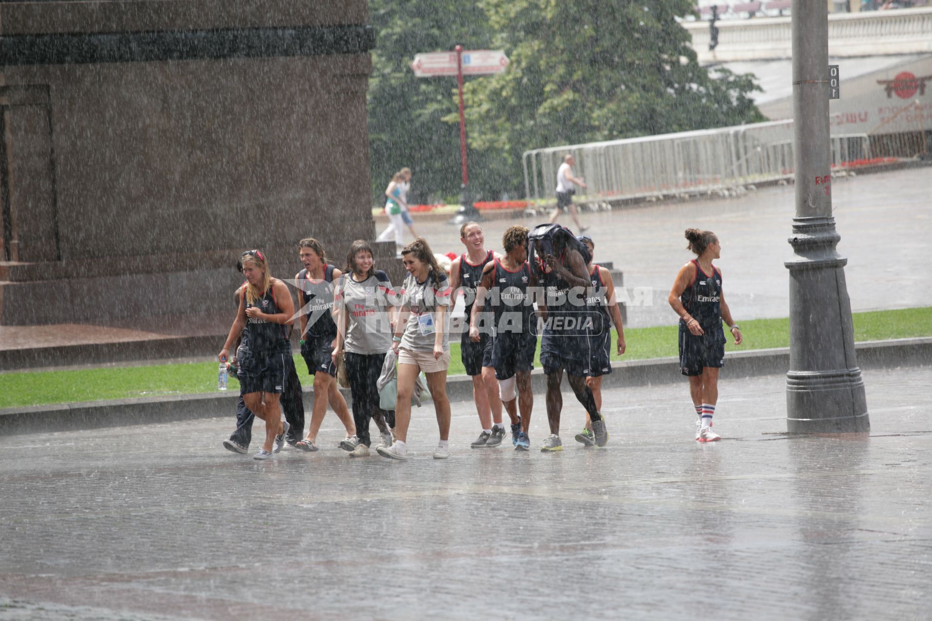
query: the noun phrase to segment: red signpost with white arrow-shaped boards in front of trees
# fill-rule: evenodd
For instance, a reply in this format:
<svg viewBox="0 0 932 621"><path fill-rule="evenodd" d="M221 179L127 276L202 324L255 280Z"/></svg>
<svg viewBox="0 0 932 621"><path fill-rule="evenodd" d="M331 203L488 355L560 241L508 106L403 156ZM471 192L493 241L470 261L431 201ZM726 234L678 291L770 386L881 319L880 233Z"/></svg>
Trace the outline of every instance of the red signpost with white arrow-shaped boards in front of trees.
<svg viewBox="0 0 932 621"><path fill-rule="evenodd" d="M508 57L500 49L467 49L457 46L452 52L416 54L411 69L418 77L456 75L459 87L459 155L462 158L462 191L469 185L466 165L466 117L463 115L463 75L501 74L508 66ZM464 202L465 197L464 197ZM469 207L469 206L467 206Z"/></svg>

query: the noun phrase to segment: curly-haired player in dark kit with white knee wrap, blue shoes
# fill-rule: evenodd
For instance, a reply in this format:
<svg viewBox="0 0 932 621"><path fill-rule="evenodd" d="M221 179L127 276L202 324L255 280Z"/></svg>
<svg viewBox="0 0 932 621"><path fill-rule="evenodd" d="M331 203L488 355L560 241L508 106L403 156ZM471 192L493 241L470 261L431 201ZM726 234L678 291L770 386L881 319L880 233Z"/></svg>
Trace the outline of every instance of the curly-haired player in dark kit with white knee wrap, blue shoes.
<svg viewBox="0 0 932 621"><path fill-rule="evenodd" d="M480 318L490 305L494 328L492 368L499 381L501 402L512 421L512 444L515 450L528 451L530 414L534 408L530 371L534 369L537 350L532 299L537 282L528 265L528 227L509 227L501 237L501 245L505 256L486 263L482 270L470 313L469 335L473 343L481 341Z"/></svg>

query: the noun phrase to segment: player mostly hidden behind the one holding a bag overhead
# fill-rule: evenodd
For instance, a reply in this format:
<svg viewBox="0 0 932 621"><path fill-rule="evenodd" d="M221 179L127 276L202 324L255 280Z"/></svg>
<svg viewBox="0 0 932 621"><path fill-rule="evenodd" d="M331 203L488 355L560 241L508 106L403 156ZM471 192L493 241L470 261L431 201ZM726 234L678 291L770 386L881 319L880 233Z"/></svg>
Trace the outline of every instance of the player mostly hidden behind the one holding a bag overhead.
<svg viewBox="0 0 932 621"><path fill-rule="evenodd" d="M595 257L596 242L588 235L576 236L589 249L589 255ZM598 311L596 326L592 332L592 359L589 361L589 374L585 383L592 390L592 397L596 399L596 410L602 412L602 376L611 372L611 324L618 332L615 351L618 356L624 356L624 326L622 325L622 312L618 309L615 299L615 283L611 280L609 270L590 261L586 265L589 270L589 280L592 288L586 294L586 304ZM576 434L576 441L583 446L595 446L596 436L592 432L592 421L589 414L585 416L583 431Z"/></svg>

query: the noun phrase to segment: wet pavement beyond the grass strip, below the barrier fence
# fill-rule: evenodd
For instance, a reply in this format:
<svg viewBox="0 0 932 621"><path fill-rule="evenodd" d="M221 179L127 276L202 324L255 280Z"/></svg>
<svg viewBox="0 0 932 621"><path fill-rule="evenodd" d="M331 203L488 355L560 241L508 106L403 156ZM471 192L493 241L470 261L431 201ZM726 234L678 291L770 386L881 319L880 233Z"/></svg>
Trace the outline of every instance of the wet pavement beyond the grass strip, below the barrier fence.
<svg viewBox="0 0 932 621"><path fill-rule="evenodd" d="M932 272L925 264L932 238L932 177L928 168L904 169L832 180L832 208L847 257L845 278L852 310L932 305ZM417 182L417 178L415 178ZM632 328L672 324L666 303L678 269L690 259L683 232L709 229L721 240L723 286L738 321L789 316L789 276L783 263L792 257L787 238L795 211L792 185L762 187L733 198L684 203L639 203L614 211L585 212L583 225L596 241L596 263L610 261L624 272L624 285L636 304L629 306ZM519 221L528 227L549 214ZM434 252L463 251L459 230L438 222L418 222ZM491 247L513 220L484 225ZM573 227L569 217L558 222ZM379 227L377 227L379 228ZM410 233L405 231L410 241ZM636 288L649 288L638 298ZM641 304L645 300L651 304Z"/></svg>

